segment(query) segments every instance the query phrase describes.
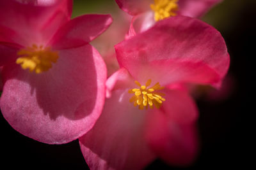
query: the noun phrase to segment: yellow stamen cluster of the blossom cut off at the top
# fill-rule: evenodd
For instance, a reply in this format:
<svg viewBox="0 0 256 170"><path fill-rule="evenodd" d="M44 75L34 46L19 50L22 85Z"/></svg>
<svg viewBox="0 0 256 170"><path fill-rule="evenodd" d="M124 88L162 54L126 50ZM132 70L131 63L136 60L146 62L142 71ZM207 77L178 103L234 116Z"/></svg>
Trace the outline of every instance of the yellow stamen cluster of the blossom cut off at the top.
<svg viewBox="0 0 256 170"><path fill-rule="evenodd" d="M150 4L150 8L155 11L154 18L156 21L176 15L179 10L179 0L154 0L154 4Z"/></svg>

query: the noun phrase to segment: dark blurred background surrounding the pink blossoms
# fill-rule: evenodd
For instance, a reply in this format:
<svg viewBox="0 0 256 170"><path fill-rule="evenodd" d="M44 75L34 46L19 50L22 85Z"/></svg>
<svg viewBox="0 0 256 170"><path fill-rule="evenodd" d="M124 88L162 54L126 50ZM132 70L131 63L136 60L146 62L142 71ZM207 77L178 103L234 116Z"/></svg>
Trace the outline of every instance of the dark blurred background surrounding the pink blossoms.
<svg viewBox="0 0 256 170"><path fill-rule="evenodd" d="M93 2L75 1L74 16L82 12L81 4L88 4L83 9L86 13L93 12ZM256 57L255 9L255 0L224 0L203 18L221 32L227 43L232 90L226 99L219 101L205 100L204 97L197 99L202 147L195 164L184 169L255 166L252 164L255 161L255 143L252 141L255 128L250 121L255 121L252 118L255 114L252 109L255 105L253 80L256 77L253 69ZM0 135L1 169L88 169L77 140L65 145L39 143L13 130L2 115ZM156 160L146 169L179 168Z"/></svg>

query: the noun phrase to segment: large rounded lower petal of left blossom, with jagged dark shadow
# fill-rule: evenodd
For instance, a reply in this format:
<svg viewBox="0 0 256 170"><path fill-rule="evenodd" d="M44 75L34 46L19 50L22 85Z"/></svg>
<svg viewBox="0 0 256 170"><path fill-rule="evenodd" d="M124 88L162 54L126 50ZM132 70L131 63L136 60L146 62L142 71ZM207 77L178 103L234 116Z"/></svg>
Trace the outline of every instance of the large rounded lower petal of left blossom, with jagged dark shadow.
<svg viewBox="0 0 256 170"><path fill-rule="evenodd" d="M52 68L29 73L17 64L3 68L0 106L21 134L49 143L68 143L89 131L104 104L106 66L91 46L60 51Z"/></svg>

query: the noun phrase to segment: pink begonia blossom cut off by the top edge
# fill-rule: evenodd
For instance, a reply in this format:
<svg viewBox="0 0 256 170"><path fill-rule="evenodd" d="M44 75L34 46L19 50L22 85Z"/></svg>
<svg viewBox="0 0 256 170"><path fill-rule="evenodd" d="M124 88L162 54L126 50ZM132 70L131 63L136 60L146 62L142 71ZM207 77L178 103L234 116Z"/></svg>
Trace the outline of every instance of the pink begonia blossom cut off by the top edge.
<svg viewBox="0 0 256 170"><path fill-rule="evenodd" d="M158 20L183 15L202 17L222 0L115 0L118 6L134 16L131 29L142 32L152 27Z"/></svg>

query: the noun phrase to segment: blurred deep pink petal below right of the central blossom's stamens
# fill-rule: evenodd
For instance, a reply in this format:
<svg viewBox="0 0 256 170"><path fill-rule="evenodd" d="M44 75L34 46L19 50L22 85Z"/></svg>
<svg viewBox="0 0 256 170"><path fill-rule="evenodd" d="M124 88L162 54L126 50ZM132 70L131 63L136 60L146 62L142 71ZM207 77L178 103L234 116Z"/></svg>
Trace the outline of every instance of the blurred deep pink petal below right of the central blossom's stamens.
<svg viewBox="0 0 256 170"><path fill-rule="evenodd" d="M175 166L193 163L198 152L195 103L184 92L170 90L160 110L148 114L147 139L161 159Z"/></svg>

